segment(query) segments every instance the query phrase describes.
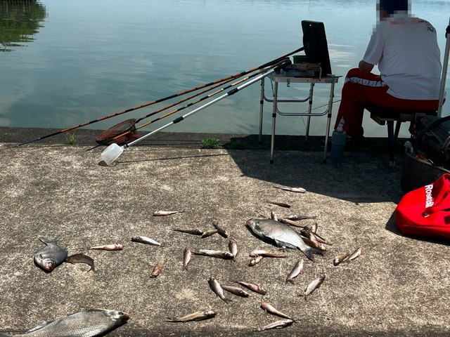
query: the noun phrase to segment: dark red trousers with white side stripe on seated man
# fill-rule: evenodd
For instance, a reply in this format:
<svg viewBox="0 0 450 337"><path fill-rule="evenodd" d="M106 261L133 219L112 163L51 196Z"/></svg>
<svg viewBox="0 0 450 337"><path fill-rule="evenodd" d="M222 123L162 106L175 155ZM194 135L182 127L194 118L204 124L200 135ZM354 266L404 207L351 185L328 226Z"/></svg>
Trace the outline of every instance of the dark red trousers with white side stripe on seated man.
<svg viewBox="0 0 450 337"><path fill-rule="evenodd" d="M344 119L344 130L348 136L364 134L363 114L366 105L378 105L393 110L437 110L439 100L404 100L396 98L387 90L379 75L361 72L358 68L349 70L342 87L342 95L335 129Z"/></svg>

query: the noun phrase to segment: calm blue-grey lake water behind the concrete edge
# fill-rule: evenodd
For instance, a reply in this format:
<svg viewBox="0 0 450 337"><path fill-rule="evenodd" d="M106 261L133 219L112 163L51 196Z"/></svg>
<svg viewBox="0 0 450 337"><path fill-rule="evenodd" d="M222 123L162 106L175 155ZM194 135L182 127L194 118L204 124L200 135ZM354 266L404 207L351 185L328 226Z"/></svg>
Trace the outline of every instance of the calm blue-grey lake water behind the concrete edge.
<svg viewBox="0 0 450 337"><path fill-rule="evenodd" d="M437 28L443 58L450 1L416 0L411 12ZM250 70L300 48L302 20L324 22L333 74L345 76L364 54L376 21L375 1L0 0L0 125L68 128ZM341 88L342 80L335 88L337 101ZM449 88L447 79L447 93ZM252 84L165 131L258 133L259 90L259 82ZM269 81L266 90L269 95ZM280 86L286 98L302 98L308 90L304 85ZM328 85L316 85L317 111L327 103L328 91ZM179 99L87 127L105 129ZM338 106L333 105L333 122ZM306 107L284 110L292 109L302 112ZM263 132L270 133L269 104L264 111ZM449 114L450 105L444 105L442 115ZM305 123L306 117L279 117L276 133L304 134ZM325 125L325 117L314 117L310 134L323 135ZM364 128L366 136L386 136L385 127L367 116Z"/></svg>

